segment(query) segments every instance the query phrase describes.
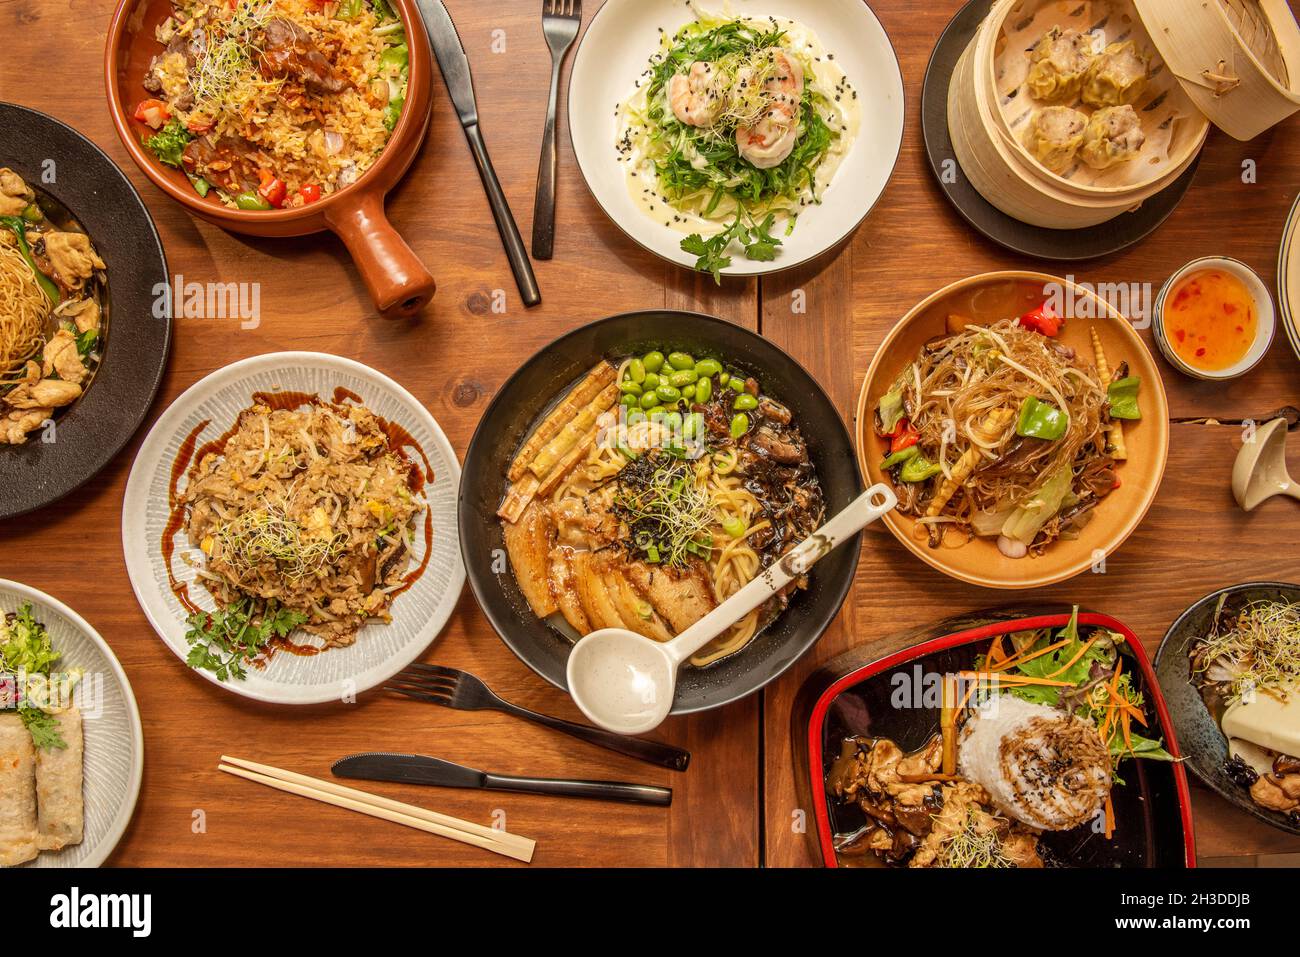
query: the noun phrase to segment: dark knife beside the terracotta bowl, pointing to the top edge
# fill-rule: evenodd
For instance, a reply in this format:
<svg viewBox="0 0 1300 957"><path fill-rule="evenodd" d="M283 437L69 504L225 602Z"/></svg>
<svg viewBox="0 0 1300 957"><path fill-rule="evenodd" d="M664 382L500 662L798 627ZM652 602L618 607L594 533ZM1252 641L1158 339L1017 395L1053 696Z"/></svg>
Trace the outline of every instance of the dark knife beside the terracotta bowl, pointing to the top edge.
<svg viewBox="0 0 1300 957"><path fill-rule="evenodd" d="M478 177L484 181L488 204L491 207L493 218L497 220L497 231L500 233L506 259L510 260L511 272L515 273L519 295L524 306L537 306L542 302L542 293L537 287L537 277L524 248L524 239L519 235L515 216L510 212L510 203L506 202L506 194L497 179L497 170L493 169L491 159L488 156L488 144L484 143L482 131L478 129L474 81L469 73L469 57L465 56L465 48L460 43L460 34L456 33L456 25L451 22L451 14L447 13L442 0L417 0L417 5L429 34L429 43L433 46L433 55L438 57L442 79L447 85L451 103L465 130L465 139L469 140Z"/></svg>

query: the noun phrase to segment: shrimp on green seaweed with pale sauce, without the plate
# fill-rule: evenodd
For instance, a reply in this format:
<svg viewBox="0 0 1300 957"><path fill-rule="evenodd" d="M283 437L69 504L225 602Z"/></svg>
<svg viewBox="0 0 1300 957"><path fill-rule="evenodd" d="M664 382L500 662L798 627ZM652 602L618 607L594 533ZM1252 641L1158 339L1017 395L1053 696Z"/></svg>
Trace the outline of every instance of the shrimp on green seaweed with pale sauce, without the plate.
<svg viewBox="0 0 1300 957"><path fill-rule="evenodd" d="M649 216L690 233L681 248L715 280L731 247L772 260L774 229L822 202L857 125L857 92L794 21L715 16L664 34L618 109L618 151Z"/></svg>

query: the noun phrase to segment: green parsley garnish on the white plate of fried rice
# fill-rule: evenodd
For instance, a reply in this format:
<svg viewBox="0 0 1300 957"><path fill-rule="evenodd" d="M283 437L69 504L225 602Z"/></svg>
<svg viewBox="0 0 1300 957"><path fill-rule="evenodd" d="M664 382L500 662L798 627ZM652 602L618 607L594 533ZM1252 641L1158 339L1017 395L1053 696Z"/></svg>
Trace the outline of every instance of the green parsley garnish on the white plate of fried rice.
<svg viewBox="0 0 1300 957"><path fill-rule="evenodd" d="M287 637L307 615L281 607L276 601L240 598L212 612L198 611L186 619L190 642L186 663L211 671L218 681L243 680L247 667L266 653L272 638Z"/></svg>

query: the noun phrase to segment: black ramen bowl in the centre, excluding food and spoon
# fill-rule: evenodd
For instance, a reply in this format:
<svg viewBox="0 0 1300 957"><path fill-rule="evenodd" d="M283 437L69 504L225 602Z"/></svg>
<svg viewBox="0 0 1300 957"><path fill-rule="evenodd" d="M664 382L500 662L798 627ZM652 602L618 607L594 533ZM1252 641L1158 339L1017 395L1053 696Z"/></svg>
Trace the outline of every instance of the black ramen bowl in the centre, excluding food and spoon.
<svg viewBox="0 0 1300 957"><path fill-rule="evenodd" d="M460 477L460 549L469 585L497 633L533 671L566 688L571 641L529 609L506 560L497 508L520 443L601 359L651 348L723 355L785 404L807 443L829 518L862 489L849 432L835 404L798 363L755 333L712 316L650 309L603 319L555 339L507 380L484 413ZM775 679L807 651L838 612L858 566L855 536L818 562L806 590L742 649L702 668L682 667L672 713L719 707Z"/></svg>

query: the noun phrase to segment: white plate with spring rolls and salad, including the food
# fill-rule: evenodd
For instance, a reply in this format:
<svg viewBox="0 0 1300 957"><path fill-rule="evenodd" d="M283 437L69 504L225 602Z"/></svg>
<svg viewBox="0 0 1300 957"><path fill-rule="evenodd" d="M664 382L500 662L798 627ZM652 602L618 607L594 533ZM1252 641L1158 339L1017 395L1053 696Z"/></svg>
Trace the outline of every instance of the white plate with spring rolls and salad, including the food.
<svg viewBox="0 0 1300 957"><path fill-rule="evenodd" d="M98 867L135 811L131 683L81 615L0 579L0 866Z"/></svg>

